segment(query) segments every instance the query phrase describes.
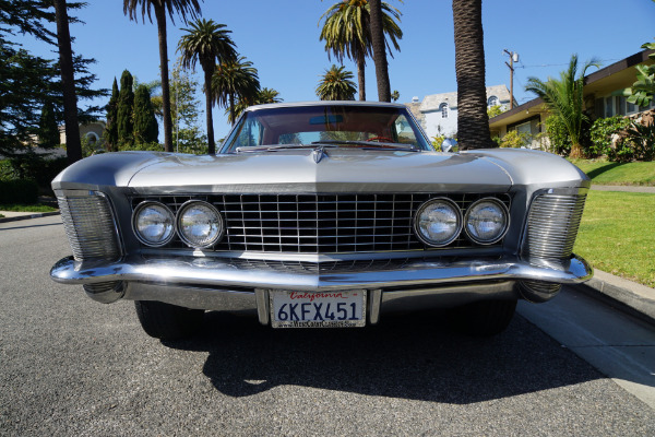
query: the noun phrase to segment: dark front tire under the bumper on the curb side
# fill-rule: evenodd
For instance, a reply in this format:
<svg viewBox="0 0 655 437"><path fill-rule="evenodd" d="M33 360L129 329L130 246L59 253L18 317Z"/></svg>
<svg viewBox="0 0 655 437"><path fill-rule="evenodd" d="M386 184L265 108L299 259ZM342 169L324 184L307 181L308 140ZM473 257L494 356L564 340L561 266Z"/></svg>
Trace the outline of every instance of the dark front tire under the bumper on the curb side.
<svg viewBox="0 0 655 437"><path fill-rule="evenodd" d="M460 332L491 336L508 328L515 309L516 299L480 300L451 309L450 322Z"/></svg>

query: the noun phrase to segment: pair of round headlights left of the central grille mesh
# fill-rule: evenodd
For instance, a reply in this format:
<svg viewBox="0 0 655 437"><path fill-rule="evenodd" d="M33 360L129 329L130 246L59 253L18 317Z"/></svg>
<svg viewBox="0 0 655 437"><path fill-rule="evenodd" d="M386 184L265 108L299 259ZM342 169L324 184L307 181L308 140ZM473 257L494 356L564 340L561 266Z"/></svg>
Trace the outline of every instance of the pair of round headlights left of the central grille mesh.
<svg viewBox="0 0 655 437"><path fill-rule="evenodd" d="M225 231L218 210L200 200L182 204L177 217L164 203L144 201L134 210L132 228L146 246L165 246L177 232L182 241L196 249L213 246Z"/></svg>

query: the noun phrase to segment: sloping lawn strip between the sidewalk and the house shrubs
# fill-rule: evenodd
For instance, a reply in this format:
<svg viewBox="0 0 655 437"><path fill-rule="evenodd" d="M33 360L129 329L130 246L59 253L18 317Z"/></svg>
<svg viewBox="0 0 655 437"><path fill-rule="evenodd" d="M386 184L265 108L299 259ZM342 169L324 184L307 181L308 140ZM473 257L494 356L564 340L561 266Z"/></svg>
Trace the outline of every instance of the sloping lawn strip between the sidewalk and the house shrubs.
<svg viewBox="0 0 655 437"><path fill-rule="evenodd" d="M655 162L611 163L603 160L571 160L597 185L655 186Z"/></svg>

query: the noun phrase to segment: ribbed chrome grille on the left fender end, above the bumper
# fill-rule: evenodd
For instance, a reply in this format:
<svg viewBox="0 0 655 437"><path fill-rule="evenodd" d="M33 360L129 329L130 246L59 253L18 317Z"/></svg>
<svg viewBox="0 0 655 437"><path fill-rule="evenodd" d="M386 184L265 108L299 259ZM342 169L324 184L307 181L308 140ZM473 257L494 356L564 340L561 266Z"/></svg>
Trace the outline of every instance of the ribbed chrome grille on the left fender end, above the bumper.
<svg viewBox="0 0 655 437"><path fill-rule="evenodd" d="M92 258L116 260L118 236L107 198L96 191L57 196L61 220L76 261Z"/></svg>

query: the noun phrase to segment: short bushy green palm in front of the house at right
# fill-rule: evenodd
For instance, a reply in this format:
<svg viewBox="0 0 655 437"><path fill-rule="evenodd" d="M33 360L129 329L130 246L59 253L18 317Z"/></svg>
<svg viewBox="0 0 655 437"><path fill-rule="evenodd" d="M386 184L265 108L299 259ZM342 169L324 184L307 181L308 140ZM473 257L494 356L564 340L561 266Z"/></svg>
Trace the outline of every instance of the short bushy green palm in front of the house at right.
<svg viewBox="0 0 655 437"><path fill-rule="evenodd" d="M571 56L569 69L560 73L560 79L548 78L543 82L537 78L527 78L525 91L541 97L553 117L558 117L565 127L571 140L571 157L582 157L582 123L588 118L584 114L584 75L590 67L599 67L596 59L587 61L577 76L577 55Z"/></svg>

